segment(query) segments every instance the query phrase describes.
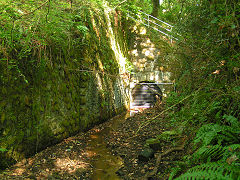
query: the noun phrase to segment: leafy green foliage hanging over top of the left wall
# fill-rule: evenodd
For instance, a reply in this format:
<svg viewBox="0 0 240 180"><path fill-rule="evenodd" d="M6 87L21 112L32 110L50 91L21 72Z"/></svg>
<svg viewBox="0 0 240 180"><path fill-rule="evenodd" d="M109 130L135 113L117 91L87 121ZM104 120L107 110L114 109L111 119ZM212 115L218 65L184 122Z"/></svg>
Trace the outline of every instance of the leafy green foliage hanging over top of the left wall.
<svg viewBox="0 0 240 180"><path fill-rule="evenodd" d="M2 2L0 6L2 72L13 73L16 79L20 78L25 83L29 83L31 77L28 75L36 75L41 67L50 65L49 56L58 53L68 57L72 55L73 48L70 44L74 44L74 40L70 30L77 29L79 26L79 34L83 38L87 28L77 25L74 15L65 13L61 8L65 6L65 11L71 11L69 3L61 1L55 3L52 4L51 1ZM32 69L21 69L28 64L32 65ZM1 73L0 83L7 83L7 81L8 79Z"/></svg>

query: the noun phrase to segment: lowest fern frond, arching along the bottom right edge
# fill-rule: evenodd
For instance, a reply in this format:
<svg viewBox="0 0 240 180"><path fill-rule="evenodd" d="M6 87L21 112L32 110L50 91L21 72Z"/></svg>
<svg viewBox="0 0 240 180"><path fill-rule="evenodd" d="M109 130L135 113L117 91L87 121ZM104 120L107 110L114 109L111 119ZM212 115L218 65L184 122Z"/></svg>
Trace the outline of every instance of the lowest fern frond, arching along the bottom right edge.
<svg viewBox="0 0 240 180"><path fill-rule="evenodd" d="M231 166L227 163L206 163L195 166L189 169L185 174L176 178L176 180L187 180L187 179L221 179L221 180L233 180L238 179L239 167Z"/></svg>

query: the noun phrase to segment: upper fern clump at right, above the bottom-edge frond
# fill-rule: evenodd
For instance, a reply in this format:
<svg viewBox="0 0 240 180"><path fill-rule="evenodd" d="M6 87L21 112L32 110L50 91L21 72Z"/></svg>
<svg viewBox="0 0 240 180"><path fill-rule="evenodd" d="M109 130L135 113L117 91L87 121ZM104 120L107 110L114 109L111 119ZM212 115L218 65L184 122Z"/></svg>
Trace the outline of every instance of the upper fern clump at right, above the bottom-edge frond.
<svg viewBox="0 0 240 180"><path fill-rule="evenodd" d="M201 143L202 146L193 154L192 163L226 162L234 154L239 156L240 123L233 116L223 117L228 125L207 124L199 129L194 143Z"/></svg>

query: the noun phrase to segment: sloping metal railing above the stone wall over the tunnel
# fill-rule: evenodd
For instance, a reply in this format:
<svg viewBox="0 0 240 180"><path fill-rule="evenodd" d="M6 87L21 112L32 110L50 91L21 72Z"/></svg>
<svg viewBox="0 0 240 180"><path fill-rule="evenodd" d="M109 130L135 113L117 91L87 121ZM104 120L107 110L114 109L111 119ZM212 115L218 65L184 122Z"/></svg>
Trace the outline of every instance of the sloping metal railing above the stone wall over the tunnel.
<svg viewBox="0 0 240 180"><path fill-rule="evenodd" d="M152 28L161 34L167 36L171 42L172 40L179 40L180 35L178 33L173 32L174 26L170 25L169 23L166 23L150 14L147 14L143 11L138 11L137 13L128 11L127 16L134 21L137 21L141 24L144 24L145 26Z"/></svg>

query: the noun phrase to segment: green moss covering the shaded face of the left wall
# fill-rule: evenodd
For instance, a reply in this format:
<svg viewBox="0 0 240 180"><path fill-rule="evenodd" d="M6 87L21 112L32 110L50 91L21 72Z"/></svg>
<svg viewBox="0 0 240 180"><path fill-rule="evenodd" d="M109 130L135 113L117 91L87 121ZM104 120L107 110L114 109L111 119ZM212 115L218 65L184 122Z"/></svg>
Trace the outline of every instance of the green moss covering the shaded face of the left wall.
<svg viewBox="0 0 240 180"><path fill-rule="evenodd" d="M93 16L98 17L98 15ZM97 17L96 21L100 21ZM91 21L88 23L91 27ZM115 55L110 47L109 37L106 36L106 27L104 23L97 22L97 24L100 41L95 31L89 28L84 45L81 44L83 41L81 38L80 41L73 39L71 43L75 43L75 46L72 46L68 44L68 39L64 39L71 33L74 35L74 32L67 30L71 29L68 25L68 28L61 32L62 34L59 33L61 38L58 37L66 43L59 44L56 42L59 39L46 36L50 38L46 42L52 42L52 44L47 44L46 51L43 50L43 54L39 55L41 57L49 55L45 57L48 60L38 59L39 57L34 54L29 54L29 57L24 60L17 59L19 63L16 64L19 65L19 70L24 70L21 73L26 76L28 84L21 79L23 76L19 74L16 76L14 74L16 72L12 69L4 71L3 76L9 79L8 86L1 86L0 90L0 97L6 97L3 100L0 98L2 132L0 138L1 144L5 144L6 148L12 147L11 152L16 154L14 155L16 158L22 157L23 154L19 153L20 151L33 154L36 152L36 146L39 149L44 148L56 140L62 140L114 114L110 112L114 111L111 108L114 95L109 92L111 89L108 88L108 85L111 85L111 79L99 73L101 82L104 82L105 97L103 98L98 96L99 87L94 73L73 71L82 68L83 65L88 70L99 70L97 65L97 60L99 60L106 73L116 74L118 72L117 60L114 59ZM66 37L65 31L69 33ZM34 40L35 38L38 39L34 37ZM21 42L24 40L22 37ZM45 43L45 40L41 37L41 42ZM14 39L15 41L21 49L21 43L18 39ZM65 46L66 44L68 45ZM30 63L31 61L34 64ZM0 65L0 69L1 67ZM20 79L17 79L18 77ZM38 141L36 141L37 138Z"/></svg>

